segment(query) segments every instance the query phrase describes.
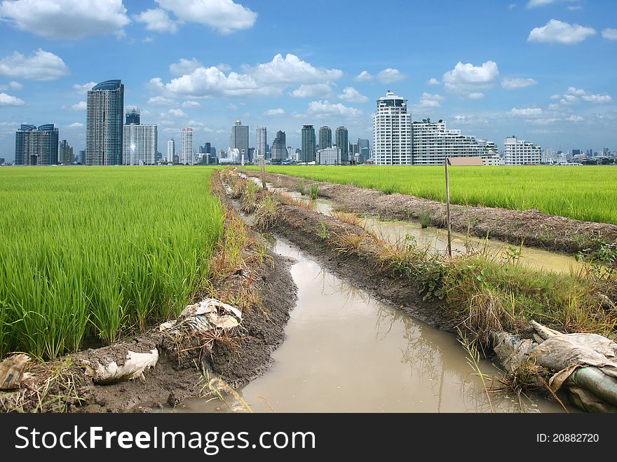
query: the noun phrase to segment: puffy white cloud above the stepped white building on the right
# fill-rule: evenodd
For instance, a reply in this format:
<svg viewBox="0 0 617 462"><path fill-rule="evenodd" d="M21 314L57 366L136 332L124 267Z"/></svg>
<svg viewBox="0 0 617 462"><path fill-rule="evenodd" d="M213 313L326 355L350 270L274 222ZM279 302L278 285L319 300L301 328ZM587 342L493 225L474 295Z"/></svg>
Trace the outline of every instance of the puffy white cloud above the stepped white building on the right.
<svg viewBox="0 0 617 462"><path fill-rule="evenodd" d="M470 99L478 99L484 97L484 94L477 90L491 88L498 77L499 68L494 61L484 62L481 66L459 61L452 71L443 75L443 81L447 90L466 94Z"/></svg>

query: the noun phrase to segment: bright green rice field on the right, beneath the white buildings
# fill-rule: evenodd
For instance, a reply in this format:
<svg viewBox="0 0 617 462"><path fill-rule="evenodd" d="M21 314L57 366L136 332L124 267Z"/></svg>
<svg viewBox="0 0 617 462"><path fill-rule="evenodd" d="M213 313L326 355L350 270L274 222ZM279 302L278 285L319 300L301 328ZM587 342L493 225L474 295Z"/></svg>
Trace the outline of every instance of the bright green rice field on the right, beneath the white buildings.
<svg viewBox="0 0 617 462"><path fill-rule="evenodd" d="M441 166L268 165L266 170L445 201ZM617 224L617 167L450 167L449 176L452 203L536 208L550 215Z"/></svg>

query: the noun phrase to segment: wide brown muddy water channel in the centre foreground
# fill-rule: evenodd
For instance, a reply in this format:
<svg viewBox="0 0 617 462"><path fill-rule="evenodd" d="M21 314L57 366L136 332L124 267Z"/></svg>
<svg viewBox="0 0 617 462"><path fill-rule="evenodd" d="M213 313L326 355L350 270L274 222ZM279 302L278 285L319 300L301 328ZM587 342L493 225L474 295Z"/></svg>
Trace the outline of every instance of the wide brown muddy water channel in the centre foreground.
<svg viewBox="0 0 617 462"><path fill-rule="evenodd" d="M272 367L225 403L191 400L173 412L241 411L240 400L254 412L563 412L503 393L489 402L452 334L372 299L290 245L273 246L297 261L299 299Z"/></svg>

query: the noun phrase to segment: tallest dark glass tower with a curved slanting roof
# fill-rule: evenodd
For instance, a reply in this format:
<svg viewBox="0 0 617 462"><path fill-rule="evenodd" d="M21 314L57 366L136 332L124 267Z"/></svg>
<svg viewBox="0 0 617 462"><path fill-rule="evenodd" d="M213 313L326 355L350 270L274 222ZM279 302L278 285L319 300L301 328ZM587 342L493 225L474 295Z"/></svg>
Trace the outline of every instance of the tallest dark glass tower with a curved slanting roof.
<svg viewBox="0 0 617 462"><path fill-rule="evenodd" d="M122 82L101 82L88 91L86 117L86 165L122 165Z"/></svg>

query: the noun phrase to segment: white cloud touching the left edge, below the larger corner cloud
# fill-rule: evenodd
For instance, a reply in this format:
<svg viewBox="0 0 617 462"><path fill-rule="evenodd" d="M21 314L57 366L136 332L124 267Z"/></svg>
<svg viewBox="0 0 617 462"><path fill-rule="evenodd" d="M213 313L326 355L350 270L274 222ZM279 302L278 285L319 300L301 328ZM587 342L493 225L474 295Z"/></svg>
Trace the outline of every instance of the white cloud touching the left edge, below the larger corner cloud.
<svg viewBox="0 0 617 462"><path fill-rule="evenodd" d="M69 74L69 68L60 57L48 51L36 50L24 56L15 51L0 60L0 75L32 80L55 80Z"/></svg>

